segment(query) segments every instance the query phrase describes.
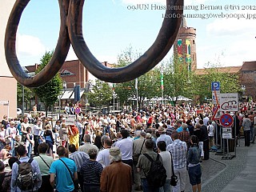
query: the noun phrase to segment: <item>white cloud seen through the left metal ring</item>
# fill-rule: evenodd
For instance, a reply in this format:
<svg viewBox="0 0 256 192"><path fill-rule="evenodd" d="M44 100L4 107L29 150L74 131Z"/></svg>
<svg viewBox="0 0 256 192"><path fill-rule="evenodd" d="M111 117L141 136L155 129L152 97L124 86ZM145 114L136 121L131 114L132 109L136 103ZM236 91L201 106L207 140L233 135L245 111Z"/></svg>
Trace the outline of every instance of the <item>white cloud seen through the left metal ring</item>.
<svg viewBox="0 0 256 192"><path fill-rule="evenodd" d="M17 35L17 51L18 54L26 54L28 56L42 56L46 52L46 47L39 38L26 34Z"/></svg>

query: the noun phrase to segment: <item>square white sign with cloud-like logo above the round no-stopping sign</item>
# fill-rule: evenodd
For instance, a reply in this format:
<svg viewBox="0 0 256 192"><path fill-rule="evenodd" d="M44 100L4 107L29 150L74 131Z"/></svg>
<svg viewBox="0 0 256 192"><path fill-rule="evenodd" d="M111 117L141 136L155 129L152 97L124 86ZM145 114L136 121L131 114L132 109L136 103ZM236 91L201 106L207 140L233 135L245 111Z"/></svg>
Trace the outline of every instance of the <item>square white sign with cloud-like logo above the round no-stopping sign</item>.
<svg viewBox="0 0 256 192"><path fill-rule="evenodd" d="M221 111L238 111L238 94L220 94Z"/></svg>

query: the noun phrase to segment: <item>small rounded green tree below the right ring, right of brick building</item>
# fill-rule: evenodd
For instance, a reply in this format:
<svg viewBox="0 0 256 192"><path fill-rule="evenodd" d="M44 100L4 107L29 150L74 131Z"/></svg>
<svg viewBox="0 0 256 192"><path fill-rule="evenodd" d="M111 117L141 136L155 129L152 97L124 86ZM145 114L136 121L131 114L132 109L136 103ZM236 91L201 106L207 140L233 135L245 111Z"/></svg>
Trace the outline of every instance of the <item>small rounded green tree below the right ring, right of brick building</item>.
<svg viewBox="0 0 256 192"><path fill-rule="evenodd" d="M107 105L112 99L113 91L107 82L96 80L88 98L90 103L95 106Z"/></svg>

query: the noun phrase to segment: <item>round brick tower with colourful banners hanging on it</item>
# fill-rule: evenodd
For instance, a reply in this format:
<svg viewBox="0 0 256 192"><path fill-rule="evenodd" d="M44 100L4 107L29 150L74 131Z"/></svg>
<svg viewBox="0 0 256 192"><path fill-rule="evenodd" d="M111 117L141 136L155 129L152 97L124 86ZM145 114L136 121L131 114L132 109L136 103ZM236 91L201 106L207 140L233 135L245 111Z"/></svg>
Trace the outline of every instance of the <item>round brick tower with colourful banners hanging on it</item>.
<svg viewBox="0 0 256 192"><path fill-rule="evenodd" d="M182 24L174 42L174 55L187 64L188 70L197 69L195 38L196 29L186 26L186 18L182 18Z"/></svg>

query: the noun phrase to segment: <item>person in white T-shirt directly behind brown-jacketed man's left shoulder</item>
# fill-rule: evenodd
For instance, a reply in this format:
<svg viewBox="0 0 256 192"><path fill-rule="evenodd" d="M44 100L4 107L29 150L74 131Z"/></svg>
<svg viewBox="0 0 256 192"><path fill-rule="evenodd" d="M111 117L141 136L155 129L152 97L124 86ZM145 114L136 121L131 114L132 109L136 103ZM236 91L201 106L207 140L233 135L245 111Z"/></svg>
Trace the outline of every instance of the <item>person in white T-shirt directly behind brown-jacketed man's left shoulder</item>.
<svg viewBox="0 0 256 192"><path fill-rule="evenodd" d="M112 146L112 141L110 138L106 138L103 143L104 150L98 152L96 161L102 164L103 168L110 165L110 148Z"/></svg>

